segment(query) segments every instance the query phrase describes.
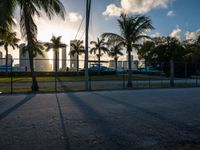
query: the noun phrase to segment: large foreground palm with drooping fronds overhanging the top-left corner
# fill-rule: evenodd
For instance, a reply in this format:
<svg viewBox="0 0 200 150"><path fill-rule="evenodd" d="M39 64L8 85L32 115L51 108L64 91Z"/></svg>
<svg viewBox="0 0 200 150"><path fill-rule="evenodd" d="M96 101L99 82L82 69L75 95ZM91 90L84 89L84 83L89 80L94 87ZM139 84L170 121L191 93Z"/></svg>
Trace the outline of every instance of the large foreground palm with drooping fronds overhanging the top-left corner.
<svg viewBox="0 0 200 150"><path fill-rule="evenodd" d="M27 49L29 55L29 63L32 76L32 91L38 91L39 86L36 80L36 75L33 67L33 52L34 45L37 43L37 26L33 17L40 17L41 10L47 14L51 19L52 15L60 15L64 19L65 9L60 0L1 0L0 7L5 9L5 22L9 23L9 19L14 14L14 8L19 6L20 8L20 27L23 36L27 40ZM3 12L3 11L1 11Z"/></svg>

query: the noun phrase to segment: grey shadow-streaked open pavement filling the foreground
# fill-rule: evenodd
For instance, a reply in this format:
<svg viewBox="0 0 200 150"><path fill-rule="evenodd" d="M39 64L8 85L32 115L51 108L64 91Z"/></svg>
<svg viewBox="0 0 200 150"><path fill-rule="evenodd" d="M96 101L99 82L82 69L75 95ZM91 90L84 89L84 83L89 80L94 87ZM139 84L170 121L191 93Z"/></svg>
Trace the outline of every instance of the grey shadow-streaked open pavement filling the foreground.
<svg viewBox="0 0 200 150"><path fill-rule="evenodd" d="M199 150L200 89L0 96L0 150Z"/></svg>

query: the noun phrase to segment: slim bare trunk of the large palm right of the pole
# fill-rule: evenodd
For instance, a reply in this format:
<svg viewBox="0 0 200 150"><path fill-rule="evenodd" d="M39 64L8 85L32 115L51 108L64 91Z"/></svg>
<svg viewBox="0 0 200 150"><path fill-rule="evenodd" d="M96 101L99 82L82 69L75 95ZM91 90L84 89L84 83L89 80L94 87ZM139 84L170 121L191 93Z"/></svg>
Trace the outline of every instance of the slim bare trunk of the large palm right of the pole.
<svg viewBox="0 0 200 150"><path fill-rule="evenodd" d="M131 51L132 51L132 46L131 44L128 45L127 47L128 51L128 83L127 87L132 87L132 59L131 59Z"/></svg>

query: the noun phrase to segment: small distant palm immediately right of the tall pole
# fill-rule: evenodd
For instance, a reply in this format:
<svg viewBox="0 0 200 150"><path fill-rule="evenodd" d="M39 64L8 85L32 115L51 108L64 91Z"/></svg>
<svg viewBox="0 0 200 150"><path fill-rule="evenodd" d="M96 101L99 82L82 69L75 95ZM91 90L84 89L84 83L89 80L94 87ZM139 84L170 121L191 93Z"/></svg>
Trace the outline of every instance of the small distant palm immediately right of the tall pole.
<svg viewBox="0 0 200 150"><path fill-rule="evenodd" d="M97 38L97 41L91 41L90 44L92 44L94 47L91 48L90 53L94 53L98 58L98 67L100 72L100 65L101 65L101 56L103 56L104 53L108 53L109 49L107 48L107 43L105 42L104 38ZM103 53L102 53L103 51Z"/></svg>

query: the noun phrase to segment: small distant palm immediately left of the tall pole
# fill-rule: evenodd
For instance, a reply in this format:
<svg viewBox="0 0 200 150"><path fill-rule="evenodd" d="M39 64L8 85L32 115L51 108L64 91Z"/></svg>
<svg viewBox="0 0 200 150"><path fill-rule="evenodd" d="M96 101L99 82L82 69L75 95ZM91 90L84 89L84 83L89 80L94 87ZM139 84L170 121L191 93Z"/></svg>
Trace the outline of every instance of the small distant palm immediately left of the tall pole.
<svg viewBox="0 0 200 150"><path fill-rule="evenodd" d="M75 40L74 42L70 43L70 56L76 55L76 61L77 61L77 75L79 74L79 55L82 55L85 53L85 48L83 46L83 41Z"/></svg>

